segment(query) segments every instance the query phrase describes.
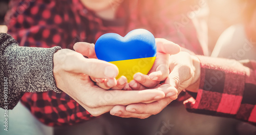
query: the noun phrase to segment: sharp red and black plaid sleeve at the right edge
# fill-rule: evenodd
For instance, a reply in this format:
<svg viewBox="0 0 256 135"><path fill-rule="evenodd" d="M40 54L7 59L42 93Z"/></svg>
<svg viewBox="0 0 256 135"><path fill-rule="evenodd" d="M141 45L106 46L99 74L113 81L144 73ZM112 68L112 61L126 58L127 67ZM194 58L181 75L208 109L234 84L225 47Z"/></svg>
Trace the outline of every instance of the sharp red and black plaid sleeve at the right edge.
<svg viewBox="0 0 256 135"><path fill-rule="evenodd" d="M200 88L196 99L184 101L187 110L256 125L256 61L199 59Z"/></svg>

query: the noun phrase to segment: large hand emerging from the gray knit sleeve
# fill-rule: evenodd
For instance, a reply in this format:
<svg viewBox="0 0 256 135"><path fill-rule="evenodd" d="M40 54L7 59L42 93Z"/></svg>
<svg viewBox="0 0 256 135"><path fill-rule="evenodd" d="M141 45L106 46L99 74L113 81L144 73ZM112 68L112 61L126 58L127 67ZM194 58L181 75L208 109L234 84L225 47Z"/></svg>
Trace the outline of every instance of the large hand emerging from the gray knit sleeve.
<svg viewBox="0 0 256 135"><path fill-rule="evenodd" d="M113 79L118 74L116 65L98 59L84 58L69 49L58 50L53 56L56 86L72 97L93 116L110 111L115 105L150 103L162 99L172 91L161 86L143 91L107 91L90 79Z"/></svg>

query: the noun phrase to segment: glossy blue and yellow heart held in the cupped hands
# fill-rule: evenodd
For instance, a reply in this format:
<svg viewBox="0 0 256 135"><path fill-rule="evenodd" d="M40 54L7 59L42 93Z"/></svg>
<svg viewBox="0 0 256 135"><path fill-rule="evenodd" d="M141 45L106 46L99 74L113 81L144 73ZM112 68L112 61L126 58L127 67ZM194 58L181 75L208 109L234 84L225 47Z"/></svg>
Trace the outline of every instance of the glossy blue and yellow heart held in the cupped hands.
<svg viewBox="0 0 256 135"><path fill-rule="evenodd" d="M156 41L154 35L144 29L136 29L122 37L116 33L107 33L95 43L98 59L115 64L120 76L130 82L137 72L147 74L156 59Z"/></svg>

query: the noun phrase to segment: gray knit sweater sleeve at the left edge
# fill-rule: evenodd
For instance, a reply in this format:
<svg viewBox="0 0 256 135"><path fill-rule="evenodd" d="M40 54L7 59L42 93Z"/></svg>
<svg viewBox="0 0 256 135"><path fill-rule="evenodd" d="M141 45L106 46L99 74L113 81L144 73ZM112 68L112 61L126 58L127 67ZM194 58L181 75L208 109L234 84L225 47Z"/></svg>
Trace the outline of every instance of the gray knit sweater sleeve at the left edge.
<svg viewBox="0 0 256 135"><path fill-rule="evenodd" d="M26 92L60 93L53 76L53 54L61 49L19 47L0 33L0 106L12 109Z"/></svg>

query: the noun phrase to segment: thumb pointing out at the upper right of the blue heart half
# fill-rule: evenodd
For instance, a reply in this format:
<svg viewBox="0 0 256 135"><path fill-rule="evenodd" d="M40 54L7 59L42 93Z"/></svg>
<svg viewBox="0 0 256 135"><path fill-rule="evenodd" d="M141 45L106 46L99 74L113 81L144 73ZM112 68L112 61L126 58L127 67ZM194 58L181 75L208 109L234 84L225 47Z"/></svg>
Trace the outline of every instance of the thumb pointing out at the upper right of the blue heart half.
<svg viewBox="0 0 256 135"><path fill-rule="evenodd" d="M156 38L157 52L165 54L177 54L180 52L180 46L164 38Z"/></svg>

